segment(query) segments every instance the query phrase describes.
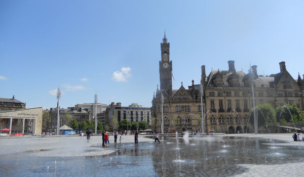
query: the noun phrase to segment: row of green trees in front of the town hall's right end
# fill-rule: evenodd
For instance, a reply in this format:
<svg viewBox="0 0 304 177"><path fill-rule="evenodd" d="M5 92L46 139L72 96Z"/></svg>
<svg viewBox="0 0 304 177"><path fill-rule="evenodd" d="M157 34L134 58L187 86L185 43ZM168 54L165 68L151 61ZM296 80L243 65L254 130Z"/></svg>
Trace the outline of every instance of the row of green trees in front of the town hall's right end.
<svg viewBox="0 0 304 177"><path fill-rule="evenodd" d="M261 104L257 111L258 126L286 124L294 121L296 124L304 123L304 112L300 112L296 105L279 106L276 109L270 104ZM288 108L288 109L287 109ZM253 124L253 113L250 115L250 122Z"/></svg>

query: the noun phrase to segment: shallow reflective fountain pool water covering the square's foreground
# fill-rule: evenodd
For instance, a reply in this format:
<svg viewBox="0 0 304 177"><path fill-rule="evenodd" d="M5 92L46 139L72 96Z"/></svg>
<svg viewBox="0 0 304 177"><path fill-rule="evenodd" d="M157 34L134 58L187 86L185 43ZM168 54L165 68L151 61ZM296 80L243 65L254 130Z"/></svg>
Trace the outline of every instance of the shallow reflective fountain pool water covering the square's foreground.
<svg viewBox="0 0 304 177"><path fill-rule="evenodd" d="M105 156L45 158L36 157L36 151L10 154L0 157L0 171L9 176L231 176L247 171L238 164L304 160L300 148L275 144L244 137L192 137L188 144L179 139L180 158L176 162L175 138L164 137L156 145L110 146L117 151Z"/></svg>

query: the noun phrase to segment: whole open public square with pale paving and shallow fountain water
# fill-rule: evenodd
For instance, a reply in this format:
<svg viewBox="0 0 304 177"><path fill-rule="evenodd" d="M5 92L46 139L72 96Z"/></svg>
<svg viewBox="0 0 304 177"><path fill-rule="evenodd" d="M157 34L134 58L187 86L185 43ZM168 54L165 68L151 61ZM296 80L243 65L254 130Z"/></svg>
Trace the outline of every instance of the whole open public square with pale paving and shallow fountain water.
<svg viewBox="0 0 304 177"><path fill-rule="evenodd" d="M153 136L140 136L134 145L134 137L124 135L117 145L110 136L109 147L101 146L100 136L90 143L78 136L1 138L0 163L6 176L297 175L304 165L304 142L291 136L179 136L178 144L175 136L160 136L160 144Z"/></svg>

